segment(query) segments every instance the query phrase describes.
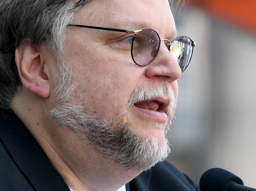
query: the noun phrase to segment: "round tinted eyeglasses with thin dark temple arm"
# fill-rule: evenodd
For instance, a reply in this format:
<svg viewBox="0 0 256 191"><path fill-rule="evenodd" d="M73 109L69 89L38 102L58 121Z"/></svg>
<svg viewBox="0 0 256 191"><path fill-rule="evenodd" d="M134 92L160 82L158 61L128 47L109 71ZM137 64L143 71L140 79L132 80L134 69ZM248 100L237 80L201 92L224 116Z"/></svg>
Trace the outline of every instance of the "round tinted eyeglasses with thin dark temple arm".
<svg viewBox="0 0 256 191"><path fill-rule="evenodd" d="M144 28L137 31L128 31L123 29L112 29L106 27L95 27L87 25L69 24L68 26L83 27L90 29L99 29L105 31L117 31L127 34L133 34L131 38L132 60L139 66L146 66L156 58L161 41L165 41L165 46L178 62L182 72L185 71L191 60L195 42L187 36L178 36L173 41L161 39L154 29Z"/></svg>

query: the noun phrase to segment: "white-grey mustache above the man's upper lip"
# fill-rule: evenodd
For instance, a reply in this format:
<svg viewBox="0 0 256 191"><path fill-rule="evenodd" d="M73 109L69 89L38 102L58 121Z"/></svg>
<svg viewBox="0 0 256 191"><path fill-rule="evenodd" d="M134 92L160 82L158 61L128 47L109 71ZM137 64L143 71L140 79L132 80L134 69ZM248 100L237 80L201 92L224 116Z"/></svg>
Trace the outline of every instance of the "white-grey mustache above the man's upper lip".
<svg viewBox="0 0 256 191"><path fill-rule="evenodd" d="M174 117L173 111L176 107L176 99L171 84L136 87L130 96L128 104L121 110L120 115L126 115L132 106L134 106L136 103L161 96L168 96L171 99L171 102L167 107L167 115L169 119L172 119Z"/></svg>

